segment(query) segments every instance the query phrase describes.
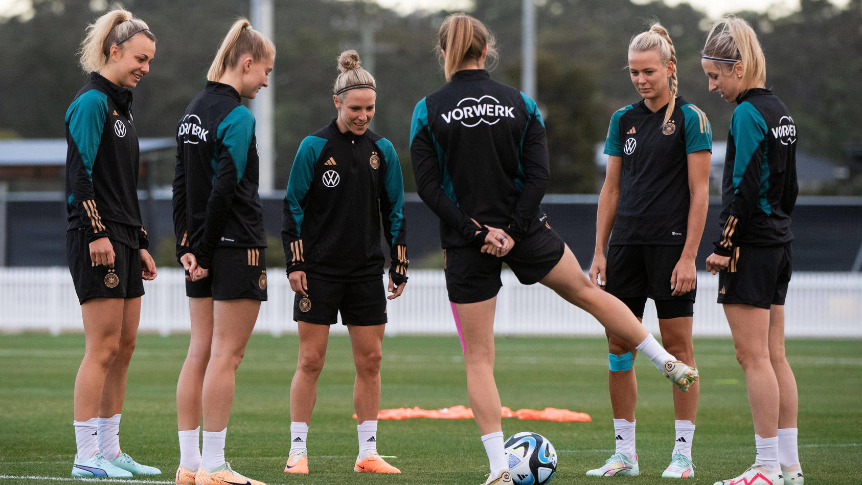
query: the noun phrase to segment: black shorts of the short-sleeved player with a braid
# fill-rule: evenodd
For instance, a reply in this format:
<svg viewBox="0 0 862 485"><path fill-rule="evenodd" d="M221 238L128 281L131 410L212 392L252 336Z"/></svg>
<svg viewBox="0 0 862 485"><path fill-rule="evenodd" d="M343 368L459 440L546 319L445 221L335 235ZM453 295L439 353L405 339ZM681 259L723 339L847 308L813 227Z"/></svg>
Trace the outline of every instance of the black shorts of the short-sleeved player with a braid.
<svg viewBox="0 0 862 485"><path fill-rule="evenodd" d="M671 276L684 245L615 244L608 248L605 291L628 305L635 317L643 318L647 298L656 302L659 318L694 315L697 289L673 296ZM672 301L672 305L663 302ZM665 306L668 308L665 309ZM665 312L670 312L665 314Z"/></svg>

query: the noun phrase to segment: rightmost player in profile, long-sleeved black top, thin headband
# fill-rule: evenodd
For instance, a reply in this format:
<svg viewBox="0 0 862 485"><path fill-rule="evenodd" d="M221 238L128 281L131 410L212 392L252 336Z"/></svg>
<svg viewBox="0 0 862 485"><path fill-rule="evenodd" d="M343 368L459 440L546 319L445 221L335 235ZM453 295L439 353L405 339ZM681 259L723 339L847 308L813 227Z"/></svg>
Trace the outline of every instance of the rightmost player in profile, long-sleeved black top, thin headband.
<svg viewBox="0 0 862 485"><path fill-rule="evenodd" d="M737 104L721 185L721 237L706 268L719 274L718 302L746 375L757 448L751 468L715 485L802 485L796 378L784 356L790 213L799 192L796 124L787 106L764 87L766 61L746 21L727 16L715 22L701 65L709 91Z"/></svg>

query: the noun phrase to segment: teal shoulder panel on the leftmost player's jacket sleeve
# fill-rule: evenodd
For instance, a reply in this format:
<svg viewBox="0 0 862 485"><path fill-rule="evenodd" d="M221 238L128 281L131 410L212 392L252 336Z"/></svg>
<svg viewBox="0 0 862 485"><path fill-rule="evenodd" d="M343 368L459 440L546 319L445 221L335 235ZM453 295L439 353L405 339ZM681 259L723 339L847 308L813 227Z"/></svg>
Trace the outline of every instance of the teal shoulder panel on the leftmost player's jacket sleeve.
<svg viewBox="0 0 862 485"><path fill-rule="evenodd" d="M108 96L97 89L91 89L78 96L69 106L69 110L66 110L66 125L69 127L69 134L72 135L84 169L91 179L93 162L96 161L96 154L102 142L102 132L107 118Z"/></svg>

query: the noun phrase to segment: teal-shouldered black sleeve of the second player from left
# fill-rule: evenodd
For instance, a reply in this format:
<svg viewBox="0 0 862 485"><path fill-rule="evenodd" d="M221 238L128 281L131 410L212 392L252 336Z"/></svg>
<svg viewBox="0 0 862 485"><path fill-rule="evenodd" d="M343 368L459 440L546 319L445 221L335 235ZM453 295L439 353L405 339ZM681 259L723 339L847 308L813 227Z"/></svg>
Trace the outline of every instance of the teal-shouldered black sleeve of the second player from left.
<svg viewBox="0 0 862 485"><path fill-rule="evenodd" d="M216 167L213 190L207 201L203 238L195 251L197 264L209 268L215 246L228 220L236 186L246 171L248 149L254 136L254 116L245 106L237 106L219 124L216 132Z"/></svg>

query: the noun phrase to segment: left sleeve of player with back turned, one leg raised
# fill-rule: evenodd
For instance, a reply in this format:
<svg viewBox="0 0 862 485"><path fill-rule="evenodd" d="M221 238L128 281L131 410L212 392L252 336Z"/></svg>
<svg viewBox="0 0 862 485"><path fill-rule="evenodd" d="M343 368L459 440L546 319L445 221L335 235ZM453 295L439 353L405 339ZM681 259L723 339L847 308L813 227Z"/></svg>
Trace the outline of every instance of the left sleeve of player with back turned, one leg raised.
<svg viewBox="0 0 862 485"><path fill-rule="evenodd" d="M446 154L428 129L428 106L425 100L422 98L416 104L410 123L410 161L413 163L416 192L440 217L442 224L458 230L465 241L481 246L488 230L461 211L453 198L443 190L440 167L445 164ZM478 234L476 231L479 231Z"/></svg>

